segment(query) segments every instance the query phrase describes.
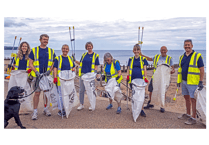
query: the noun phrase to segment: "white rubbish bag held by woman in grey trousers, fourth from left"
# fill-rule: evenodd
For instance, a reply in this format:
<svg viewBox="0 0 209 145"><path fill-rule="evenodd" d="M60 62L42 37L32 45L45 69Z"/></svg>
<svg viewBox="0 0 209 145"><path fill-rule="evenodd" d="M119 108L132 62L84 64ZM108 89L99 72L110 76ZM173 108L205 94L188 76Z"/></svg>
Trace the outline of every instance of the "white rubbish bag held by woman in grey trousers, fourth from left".
<svg viewBox="0 0 209 145"><path fill-rule="evenodd" d="M81 76L81 79L83 80L92 110L95 110L95 107L96 107L96 94L97 93L95 89L95 78L96 78L96 73L86 73L83 76Z"/></svg>

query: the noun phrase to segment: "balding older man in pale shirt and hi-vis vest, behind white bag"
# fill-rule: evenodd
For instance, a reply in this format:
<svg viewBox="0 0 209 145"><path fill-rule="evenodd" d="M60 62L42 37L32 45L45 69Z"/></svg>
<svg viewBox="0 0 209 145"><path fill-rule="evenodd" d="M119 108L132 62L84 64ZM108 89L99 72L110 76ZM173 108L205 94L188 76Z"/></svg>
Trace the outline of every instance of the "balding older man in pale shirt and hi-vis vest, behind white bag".
<svg viewBox="0 0 209 145"><path fill-rule="evenodd" d="M149 109L149 108L154 107L154 105L150 104L150 102L151 102L152 91L153 91L152 80L153 80L153 76L154 76L154 73L155 73L155 70L156 70L157 66L160 65L160 64L168 64L172 68L171 74L175 73L173 59L172 59L171 56L167 55L167 52L168 52L167 47L162 46L160 48L160 52L161 52L161 54L156 54L153 58L150 58L150 57L145 56L142 53L140 53L140 55L143 56L143 57L146 57L148 61L153 61L153 67L154 67L153 75L152 75L151 81L150 81L149 86L148 86L149 99L150 100L148 101L147 106L145 106L144 109ZM165 97L166 97L166 95L165 95ZM160 112L164 113L165 109L161 107Z"/></svg>

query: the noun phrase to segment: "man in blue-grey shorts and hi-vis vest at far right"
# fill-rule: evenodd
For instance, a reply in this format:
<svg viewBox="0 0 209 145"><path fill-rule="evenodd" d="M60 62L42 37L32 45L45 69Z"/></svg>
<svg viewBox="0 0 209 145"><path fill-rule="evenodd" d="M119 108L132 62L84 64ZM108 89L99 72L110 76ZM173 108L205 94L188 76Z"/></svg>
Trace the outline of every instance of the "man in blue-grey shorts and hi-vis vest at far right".
<svg viewBox="0 0 209 145"><path fill-rule="evenodd" d="M179 119L187 121L185 124L196 124L196 99L195 90L203 89L204 63L201 53L192 50L191 39L184 41L185 53L179 57L179 68L177 77L177 87L182 85L182 95L186 102L186 114L179 116ZM192 108L192 116L190 114Z"/></svg>

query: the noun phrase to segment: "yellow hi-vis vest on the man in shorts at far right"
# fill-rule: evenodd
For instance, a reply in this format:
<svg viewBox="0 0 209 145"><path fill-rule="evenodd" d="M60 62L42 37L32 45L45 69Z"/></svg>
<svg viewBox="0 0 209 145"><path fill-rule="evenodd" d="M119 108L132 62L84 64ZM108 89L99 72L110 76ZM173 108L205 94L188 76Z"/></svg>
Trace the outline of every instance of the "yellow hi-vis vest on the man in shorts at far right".
<svg viewBox="0 0 209 145"><path fill-rule="evenodd" d="M200 58L201 53L194 52L191 56L188 74L187 74L187 84L188 85L198 85L200 81L200 69L197 66L197 61ZM182 67L181 61L184 57L184 54L179 57L179 68L178 68L178 78L177 83L182 82ZM201 56L202 57L202 56Z"/></svg>

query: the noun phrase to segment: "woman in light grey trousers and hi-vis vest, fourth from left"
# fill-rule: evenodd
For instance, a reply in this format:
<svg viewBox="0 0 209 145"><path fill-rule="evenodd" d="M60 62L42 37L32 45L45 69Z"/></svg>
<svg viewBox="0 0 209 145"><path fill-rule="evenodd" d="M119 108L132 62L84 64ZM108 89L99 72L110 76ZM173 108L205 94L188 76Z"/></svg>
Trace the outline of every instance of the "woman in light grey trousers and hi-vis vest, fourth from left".
<svg viewBox="0 0 209 145"><path fill-rule="evenodd" d="M81 76L85 73L89 72L95 72L97 73L97 66L99 65L99 54L93 52L93 44L92 42L87 42L85 45L85 49L87 52L83 53L79 61L75 62L79 64L79 72L78 75L80 77L79 79L79 100L80 100L80 106L77 108L77 110L82 110L84 108L84 92L85 92L85 86L83 83L83 80L81 79ZM92 111L92 107L89 107L89 111Z"/></svg>

